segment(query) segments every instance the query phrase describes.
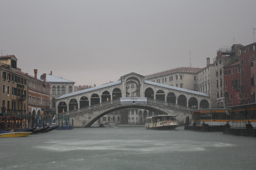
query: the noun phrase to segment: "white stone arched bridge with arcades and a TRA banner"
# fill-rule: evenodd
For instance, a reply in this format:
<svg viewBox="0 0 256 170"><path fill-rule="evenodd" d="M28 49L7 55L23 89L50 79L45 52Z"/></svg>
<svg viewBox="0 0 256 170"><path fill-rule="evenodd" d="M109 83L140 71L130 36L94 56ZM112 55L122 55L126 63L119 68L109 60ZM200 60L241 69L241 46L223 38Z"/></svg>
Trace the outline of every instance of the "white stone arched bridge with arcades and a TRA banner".
<svg viewBox="0 0 256 170"><path fill-rule="evenodd" d="M191 118L193 109L209 108L210 97L205 93L150 82L144 77L129 73L117 82L63 95L56 100L57 113L69 115L76 127L90 127L102 116L120 109L140 109L146 114L143 118L151 111L174 114L181 120ZM132 88L128 84L133 84ZM123 97L145 97L146 104L124 105L120 101Z"/></svg>

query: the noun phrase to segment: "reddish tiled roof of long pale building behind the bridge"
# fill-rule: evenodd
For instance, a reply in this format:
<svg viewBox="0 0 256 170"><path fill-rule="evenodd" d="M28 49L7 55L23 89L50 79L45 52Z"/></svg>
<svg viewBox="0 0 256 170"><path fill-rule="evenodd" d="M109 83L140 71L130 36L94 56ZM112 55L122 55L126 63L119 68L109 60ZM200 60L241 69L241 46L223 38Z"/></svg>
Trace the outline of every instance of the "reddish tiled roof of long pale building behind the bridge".
<svg viewBox="0 0 256 170"><path fill-rule="evenodd" d="M148 79L148 78L153 78L153 77L158 77L158 76L162 76L162 75L167 75L167 74L170 74L170 73L175 73L175 72L190 72L190 73L197 73L199 72L200 70L202 70L203 68L194 68L194 67L179 67L179 68L176 68L176 69L170 69L170 70L167 70L167 71L162 71L162 72L159 72L159 73L154 73L154 74L151 74L151 75L146 75L145 76L145 79ZM192 72L193 70L193 72Z"/></svg>

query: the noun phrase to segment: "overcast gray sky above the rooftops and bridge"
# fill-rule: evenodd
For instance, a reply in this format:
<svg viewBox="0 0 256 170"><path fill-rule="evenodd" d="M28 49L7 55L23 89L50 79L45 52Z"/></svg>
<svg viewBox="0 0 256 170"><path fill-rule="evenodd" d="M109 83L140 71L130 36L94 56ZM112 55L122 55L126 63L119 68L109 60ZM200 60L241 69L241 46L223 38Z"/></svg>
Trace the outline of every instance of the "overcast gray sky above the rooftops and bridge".
<svg viewBox="0 0 256 170"><path fill-rule="evenodd" d="M189 50L192 67L206 67L220 46L253 43L255 7L255 0L1 0L0 51L30 75L53 71L76 86L99 86L131 72L188 67Z"/></svg>

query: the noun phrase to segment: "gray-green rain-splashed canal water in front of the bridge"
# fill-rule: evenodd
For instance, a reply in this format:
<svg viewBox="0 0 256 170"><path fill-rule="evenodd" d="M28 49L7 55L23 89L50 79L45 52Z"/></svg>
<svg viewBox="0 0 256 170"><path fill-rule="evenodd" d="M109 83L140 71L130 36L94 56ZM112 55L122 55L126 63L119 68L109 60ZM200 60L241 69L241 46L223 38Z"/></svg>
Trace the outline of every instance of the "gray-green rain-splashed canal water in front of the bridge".
<svg viewBox="0 0 256 170"><path fill-rule="evenodd" d="M0 170L256 169L256 138L144 126L0 139Z"/></svg>

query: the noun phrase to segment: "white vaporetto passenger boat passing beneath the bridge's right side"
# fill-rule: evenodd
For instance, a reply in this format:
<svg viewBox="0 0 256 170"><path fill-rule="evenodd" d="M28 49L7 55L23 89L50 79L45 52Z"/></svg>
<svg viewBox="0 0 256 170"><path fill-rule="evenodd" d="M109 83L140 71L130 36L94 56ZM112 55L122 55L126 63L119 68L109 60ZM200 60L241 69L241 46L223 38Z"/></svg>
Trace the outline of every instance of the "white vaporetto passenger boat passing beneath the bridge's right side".
<svg viewBox="0 0 256 170"><path fill-rule="evenodd" d="M170 130L176 129L179 122L175 115L158 115L146 118L145 127L154 130Z"/></svg>

